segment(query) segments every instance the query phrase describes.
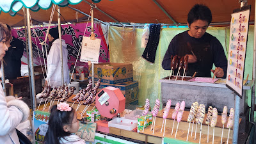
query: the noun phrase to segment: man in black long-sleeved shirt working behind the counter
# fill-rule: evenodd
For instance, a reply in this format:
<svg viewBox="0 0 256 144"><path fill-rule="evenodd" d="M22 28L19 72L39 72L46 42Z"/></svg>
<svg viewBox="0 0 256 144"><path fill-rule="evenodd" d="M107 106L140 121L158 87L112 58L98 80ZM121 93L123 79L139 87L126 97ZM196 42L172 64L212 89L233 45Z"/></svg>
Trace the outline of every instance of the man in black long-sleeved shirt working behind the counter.
<svg viewBox="0 0 256 144"><path fill-rule="evenodd" d="M219 40L205 33L212 21L211 10L202 4L195 4L188 13L188 31L174 36L164 55L162 67L171 70L171 56L179 57L188 55L187 76L211 77L211 72L216 77L226 78L227 58ZM212 70L212 65L216 69ZM175 70L177 74L177 70ZM183 72L180 72L183 74Z"/></svg>

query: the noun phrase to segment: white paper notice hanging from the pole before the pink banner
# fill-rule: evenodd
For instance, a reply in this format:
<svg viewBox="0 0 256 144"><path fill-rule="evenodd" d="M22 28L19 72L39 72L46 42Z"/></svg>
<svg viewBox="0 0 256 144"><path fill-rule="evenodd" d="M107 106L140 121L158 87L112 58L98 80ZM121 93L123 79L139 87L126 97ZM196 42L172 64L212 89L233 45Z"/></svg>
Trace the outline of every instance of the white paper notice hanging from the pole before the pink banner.
<svg viewBox="0 0 256 144"><path fill-rule="evenodd" d="M84 36L80 61L91 61L92 63L99 63L100 42L101 40L99 38L91 40L90 37Z"/></svg>

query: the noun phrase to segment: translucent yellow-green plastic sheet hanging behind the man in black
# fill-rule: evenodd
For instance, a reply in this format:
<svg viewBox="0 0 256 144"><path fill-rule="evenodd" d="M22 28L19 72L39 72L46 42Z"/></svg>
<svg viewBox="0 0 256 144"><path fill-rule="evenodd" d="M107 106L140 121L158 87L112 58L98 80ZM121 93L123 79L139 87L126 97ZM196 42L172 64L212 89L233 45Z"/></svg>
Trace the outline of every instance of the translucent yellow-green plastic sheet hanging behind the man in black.
<svg viewBox="0 0 256 144"><path fill-rule="evenodd" d="M141 58L144 49L141 49L141 35L143 29L109 27L109 57L113 63L132 63L134 80L139 81L139 104L144 105L145 99L150 99L150 106L154 106L156 99L161 100L161 83L159 79L169 76L170 70L164 70L161 66L164 54L168 49L173 36L188 30L188 28L163 28L160 42L157 47L156 61L148 63ZM223 45L227 56L229 28L208 28L207 33L216 36ZM226 36L225 36L226 34ZM225 44L227 38L227 44ZM227 45L227 47L225 46ZM253 26L249 27L248 46L246 52L246 66L244 75L252 77L253 54ZM251 78L252 79L252 78Z"/></svg>

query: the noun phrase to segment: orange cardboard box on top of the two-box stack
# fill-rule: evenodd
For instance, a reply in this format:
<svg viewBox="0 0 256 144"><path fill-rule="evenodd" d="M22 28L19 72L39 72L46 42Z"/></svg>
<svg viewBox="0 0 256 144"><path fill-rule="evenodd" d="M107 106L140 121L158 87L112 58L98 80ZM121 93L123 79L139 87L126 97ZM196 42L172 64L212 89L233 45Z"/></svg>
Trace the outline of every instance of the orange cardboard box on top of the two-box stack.
<svg viewBox="0 0 256 144"><path fill-rule="evenodd" d="M133 81L132 64L129 63L99 63L94 65L94 81L117 84ZM92 78L92 65L89 65L89 77Z"/></svg>

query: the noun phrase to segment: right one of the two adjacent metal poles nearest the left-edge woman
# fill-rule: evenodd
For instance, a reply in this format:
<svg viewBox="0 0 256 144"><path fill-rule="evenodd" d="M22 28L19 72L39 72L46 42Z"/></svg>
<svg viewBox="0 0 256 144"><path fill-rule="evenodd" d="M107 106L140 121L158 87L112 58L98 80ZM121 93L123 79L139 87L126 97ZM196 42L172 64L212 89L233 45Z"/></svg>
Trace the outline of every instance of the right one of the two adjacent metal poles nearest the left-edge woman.
<svg viewBox="0 0 256 144"><path fill-rule="evenodd" d="M35 89L35 77L34 77L34 67L33 67L33 51L32 51L32 42L31 42L31 31L30 31L30 14L29 14L29 8L26 8L27 12L27 28L28 28L28 47L29 47L29 68L31 72L31 89L32 89L32 98L33 98L33 111L35 111L36 108L36 89Z"/></svg>

